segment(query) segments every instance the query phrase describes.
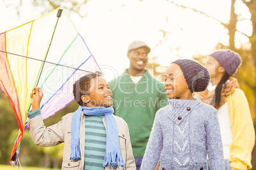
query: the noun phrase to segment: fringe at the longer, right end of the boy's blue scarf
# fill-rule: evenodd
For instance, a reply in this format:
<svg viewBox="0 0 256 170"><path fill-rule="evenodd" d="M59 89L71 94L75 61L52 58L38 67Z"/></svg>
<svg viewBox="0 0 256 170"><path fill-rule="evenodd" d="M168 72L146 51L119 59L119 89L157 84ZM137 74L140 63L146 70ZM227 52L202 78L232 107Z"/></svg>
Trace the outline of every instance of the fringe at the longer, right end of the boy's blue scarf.
<svg viewBox="0 0 256 170"><path fill-rule="evenodd" d="M120 162L122 167L125 166L123 157L120 152L106 152L103 167L108 166L110 168L113 167L113 169L117 169L117 167L119 168L118 162Z"/></svg>

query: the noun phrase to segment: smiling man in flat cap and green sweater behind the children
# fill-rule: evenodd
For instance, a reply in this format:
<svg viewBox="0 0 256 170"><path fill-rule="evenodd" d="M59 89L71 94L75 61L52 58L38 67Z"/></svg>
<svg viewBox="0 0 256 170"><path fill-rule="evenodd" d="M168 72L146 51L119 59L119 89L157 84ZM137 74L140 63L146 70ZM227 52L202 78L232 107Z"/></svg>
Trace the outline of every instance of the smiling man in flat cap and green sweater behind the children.
<svg viewBox="0 0 256 170"><path fill-rule="evenodd" d="M122 117L129 126L137 170L141 166L155 113L167 105L164 84L145 69L150 51L143 41L131 42L127 50L129 68L108 82L113 93L114 114Z"/></svg>

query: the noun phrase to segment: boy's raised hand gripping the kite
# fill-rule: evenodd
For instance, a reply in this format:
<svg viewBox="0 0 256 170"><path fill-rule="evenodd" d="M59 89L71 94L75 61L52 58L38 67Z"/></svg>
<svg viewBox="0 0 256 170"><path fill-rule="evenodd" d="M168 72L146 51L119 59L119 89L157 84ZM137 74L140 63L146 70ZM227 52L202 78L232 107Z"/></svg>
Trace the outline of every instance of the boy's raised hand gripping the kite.
<svg viewBox="0 0 256 170"><path fill-rule="evenodd" d="M38 88L34 87L32 89L32 93L30 94L32 100L31 100L31 105L32 105L32 111L40 108L40 102L43 98L43 91Z"/></svg>

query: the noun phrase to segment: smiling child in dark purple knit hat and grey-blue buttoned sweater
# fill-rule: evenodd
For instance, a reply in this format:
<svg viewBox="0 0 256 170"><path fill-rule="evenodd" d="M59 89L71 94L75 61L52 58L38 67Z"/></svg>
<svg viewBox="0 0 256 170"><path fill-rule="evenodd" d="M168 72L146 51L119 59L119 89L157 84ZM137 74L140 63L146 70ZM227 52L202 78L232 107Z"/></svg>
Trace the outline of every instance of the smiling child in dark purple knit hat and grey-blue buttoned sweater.
<svg viewBox="0 0 256 170"><path fill-rule="evenodd" d="M141 170L160 169L224 170L224 155L217 110L193 98L204 91L210 74L200 63L180 59L166 69L164 88L169 105L155 115Z"/></svg>

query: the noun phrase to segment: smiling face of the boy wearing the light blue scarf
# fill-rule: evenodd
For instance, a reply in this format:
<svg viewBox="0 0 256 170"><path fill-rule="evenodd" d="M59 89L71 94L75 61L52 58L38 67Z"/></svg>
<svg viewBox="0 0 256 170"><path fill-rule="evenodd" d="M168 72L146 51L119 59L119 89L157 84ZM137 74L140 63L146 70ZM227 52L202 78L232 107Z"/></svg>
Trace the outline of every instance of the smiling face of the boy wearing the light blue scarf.
<svg viewBox="0 0 256 170"><path fill-rule="evenodd" d="M89 107L110 107L112 93L106 80L99 76L90 81Z"/></svg>

